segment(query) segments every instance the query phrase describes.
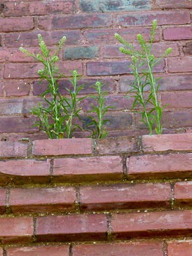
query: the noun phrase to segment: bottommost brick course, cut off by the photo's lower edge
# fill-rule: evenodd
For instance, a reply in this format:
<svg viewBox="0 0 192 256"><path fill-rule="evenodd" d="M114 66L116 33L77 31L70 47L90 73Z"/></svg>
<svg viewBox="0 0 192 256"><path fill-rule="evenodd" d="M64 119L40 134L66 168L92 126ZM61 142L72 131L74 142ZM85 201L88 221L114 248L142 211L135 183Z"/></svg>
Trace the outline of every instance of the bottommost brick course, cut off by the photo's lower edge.
<svg viewBox="0 0 192 256"><path fill-rule="evenodd" d="M137 242L108 242L105 244L79 244L79 245L33 245L25 247L4 247L7 256L180 256L185 251L185 256L191 256L192 240L162 240L137 241ZM93 254L94 253L94 254ZM0 247L0 256L3 249Z"/></svg>

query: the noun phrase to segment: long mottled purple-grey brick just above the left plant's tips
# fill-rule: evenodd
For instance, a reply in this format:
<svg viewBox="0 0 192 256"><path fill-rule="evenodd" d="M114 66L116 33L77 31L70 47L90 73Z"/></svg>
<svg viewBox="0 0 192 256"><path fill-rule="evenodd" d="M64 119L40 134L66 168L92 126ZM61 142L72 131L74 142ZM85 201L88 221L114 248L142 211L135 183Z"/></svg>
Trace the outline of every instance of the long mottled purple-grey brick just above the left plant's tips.
<svg viewBox="0 0 192 256"><path fill-rule="evenodd" d="M84 14L40 17L38 27L40 30L66 30L74 28L100 28L110 26L110 14Z"/></svg>

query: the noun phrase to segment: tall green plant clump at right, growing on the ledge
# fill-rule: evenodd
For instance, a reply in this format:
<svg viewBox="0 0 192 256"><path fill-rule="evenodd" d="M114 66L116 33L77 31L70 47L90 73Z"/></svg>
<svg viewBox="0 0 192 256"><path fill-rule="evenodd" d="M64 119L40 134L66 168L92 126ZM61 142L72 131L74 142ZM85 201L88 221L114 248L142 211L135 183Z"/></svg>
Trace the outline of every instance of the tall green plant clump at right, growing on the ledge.
<svg viewBox="0 0 192 256"><path fill-rule="evenodd" d="M161 63L161 60L165 56L168 56L168 54L170 54L172 51L171 48L168 48L160 58L155 58L155 56L151 54L151 47L155 39L156 31L157 20L153 20L149 44L146 43L142 35L137 35L138 42L140 43L142 51L136 51L134 49L134 45L128 43L128 41L123 39L123 37L115 33L116 39L126 47L119 48L121 53L128 54L132 58L132 64L130 64L130 68L132 69L132 74L134 75L134 81L131 85L132 89L130 89L130 91L128 91L126 95L128 95L129 93L133 93L133 95L129 96L134 97L132 110L136 108L136 106L138 106L139 104L142 105L143 110L136 112L142 114L141 121L143 121L145 125L147 125L147 127L149 128L150 135L153 134L152 129L154 122L156 123L156 133L161 135L163 131L163 125L161 125L161 116L162 111L166 106L161 106L161 102L157 99L160 85L160 83L157 85L157 81L159 81L161 77L155 79L153 75L153 68L159 65ZM150 87L150 93L149 96L145 98L144 89L147 85L149 85ZM147 110L148 104L151 104L153 106L151 110Z"/></svg>

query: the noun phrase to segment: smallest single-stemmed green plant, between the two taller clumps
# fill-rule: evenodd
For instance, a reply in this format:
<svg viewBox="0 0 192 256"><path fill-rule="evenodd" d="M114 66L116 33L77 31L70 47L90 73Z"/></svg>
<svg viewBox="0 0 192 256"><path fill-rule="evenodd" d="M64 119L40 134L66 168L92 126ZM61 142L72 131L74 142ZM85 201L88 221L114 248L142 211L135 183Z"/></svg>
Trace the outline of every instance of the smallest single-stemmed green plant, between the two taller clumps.
<svg viewBox="0 0 192 256"><path fill-rule="evenodd" d="M101 91L103 86L104 84L102 83L102 81L101 82L97 81L95 85L91 86L94 89L96 89L96 91L98 92L97 96L90 96L91 98L96 100L97 104L95 106L94 104L91 103L94 110L88 111L88 113L90 112L96 113L96 117L88 116L90 117L90 119L92 119L92 122L88 123L88 126L89 125L95 126L95 128L92 129L92 135L90 136L93 139L104 139L107 137L109 133L108 131L106 131L107 122L109 121L109 119L104 119L104 115L106 114L109 108L113 108L113 107L112 106L104 107L105 96L107 92Z"/></svg>

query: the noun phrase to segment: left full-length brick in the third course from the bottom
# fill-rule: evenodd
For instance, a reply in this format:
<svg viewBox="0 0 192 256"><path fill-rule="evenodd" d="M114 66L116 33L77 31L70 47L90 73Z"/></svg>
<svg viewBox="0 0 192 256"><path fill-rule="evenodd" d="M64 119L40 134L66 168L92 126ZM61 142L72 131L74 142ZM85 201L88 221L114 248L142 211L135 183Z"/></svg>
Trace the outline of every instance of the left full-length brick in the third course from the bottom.
<svg viewBox="0 0 192 256"><path fill-rule="evenodd" d="M12 188L9 205L13 213L74 211L76 191L73 187Z"/></svg>

